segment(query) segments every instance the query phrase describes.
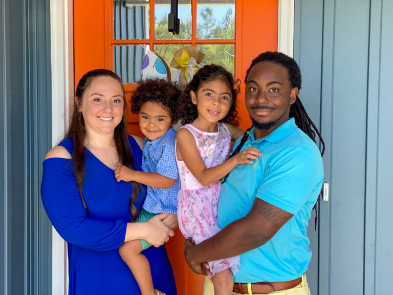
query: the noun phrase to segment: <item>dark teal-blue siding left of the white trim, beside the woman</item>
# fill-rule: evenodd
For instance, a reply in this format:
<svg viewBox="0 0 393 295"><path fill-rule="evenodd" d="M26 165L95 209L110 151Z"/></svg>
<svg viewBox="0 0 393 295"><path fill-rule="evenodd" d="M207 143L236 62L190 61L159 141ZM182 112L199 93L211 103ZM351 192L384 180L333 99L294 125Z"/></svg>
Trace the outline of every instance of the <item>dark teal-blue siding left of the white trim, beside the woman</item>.
<svg viewBox="0 0 393 295"><path fill-rule="evenodd" d="M0 293L51 294L51 225L39 197L51 145L49 0L0 7Z"/></svg>

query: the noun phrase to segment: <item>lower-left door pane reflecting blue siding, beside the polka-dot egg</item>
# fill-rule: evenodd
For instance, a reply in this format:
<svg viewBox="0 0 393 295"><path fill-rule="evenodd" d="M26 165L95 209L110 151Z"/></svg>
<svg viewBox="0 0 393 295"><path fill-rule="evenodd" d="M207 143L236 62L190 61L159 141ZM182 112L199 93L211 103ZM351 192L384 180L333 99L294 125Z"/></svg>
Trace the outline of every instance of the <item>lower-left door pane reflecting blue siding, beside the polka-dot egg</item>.
<svg viewBox="0 0 393 295"><path fill-rule="evenodd" d="M124 84L142 79L142 62L148 47L141 45L115 45L113 47L113 71Z"/></svg>

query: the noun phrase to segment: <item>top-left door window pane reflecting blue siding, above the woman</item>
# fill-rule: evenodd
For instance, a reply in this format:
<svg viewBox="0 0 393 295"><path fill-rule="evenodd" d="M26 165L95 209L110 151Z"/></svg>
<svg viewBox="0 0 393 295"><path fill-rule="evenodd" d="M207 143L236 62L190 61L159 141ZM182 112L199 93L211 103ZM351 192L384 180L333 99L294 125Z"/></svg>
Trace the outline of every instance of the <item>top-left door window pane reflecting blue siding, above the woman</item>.
<svg viewBox="0 0 393 295"><path fill-rule="evenodd" d="M113 1L113 38L149 39L149 0Z"/></svg>

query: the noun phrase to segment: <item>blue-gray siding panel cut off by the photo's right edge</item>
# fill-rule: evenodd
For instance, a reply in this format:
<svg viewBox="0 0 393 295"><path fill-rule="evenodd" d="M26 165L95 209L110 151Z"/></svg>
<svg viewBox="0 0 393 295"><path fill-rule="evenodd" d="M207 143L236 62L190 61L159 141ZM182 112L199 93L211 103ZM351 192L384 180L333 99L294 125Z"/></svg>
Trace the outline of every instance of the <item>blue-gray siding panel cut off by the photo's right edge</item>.
<svg viewBox="0 0 393 295"><path fill-rule="evenodd" d="M375 260L375 294L391 292L393 277L393 2L382 1L381 59L378 117L378 182L377 182L377 229ZM375 96L378 93L374 94Z"/></svg>

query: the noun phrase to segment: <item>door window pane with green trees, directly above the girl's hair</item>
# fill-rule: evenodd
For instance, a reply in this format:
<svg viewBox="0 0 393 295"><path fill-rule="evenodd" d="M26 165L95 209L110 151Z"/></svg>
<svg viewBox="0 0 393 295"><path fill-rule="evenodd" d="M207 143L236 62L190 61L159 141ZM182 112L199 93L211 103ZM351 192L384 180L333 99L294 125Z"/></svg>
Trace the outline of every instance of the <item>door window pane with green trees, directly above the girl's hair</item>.
<svg viewBox="0 0 393 295"><path fill-rule="evenodd" d="M234 75L235 46L233 44L197 45L197 48L205 53L201 66L220 65Z"/></svg>

